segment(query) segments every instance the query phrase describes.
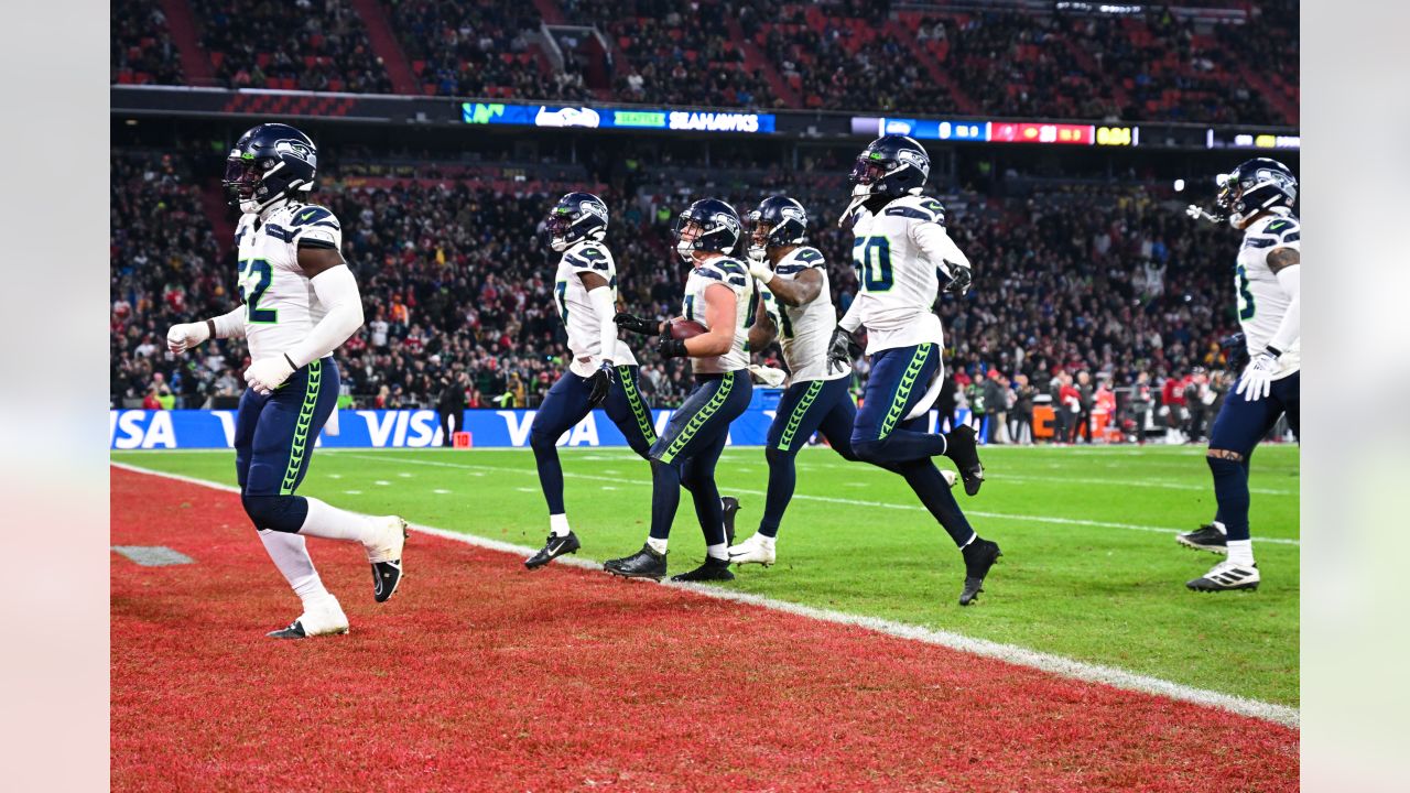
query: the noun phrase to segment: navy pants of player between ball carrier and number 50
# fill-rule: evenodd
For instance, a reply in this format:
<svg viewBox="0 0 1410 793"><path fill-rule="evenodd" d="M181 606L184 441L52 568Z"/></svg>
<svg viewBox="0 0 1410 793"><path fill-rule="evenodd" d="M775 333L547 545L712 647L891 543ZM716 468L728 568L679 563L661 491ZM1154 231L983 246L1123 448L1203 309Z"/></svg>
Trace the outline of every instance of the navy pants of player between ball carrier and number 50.
<svg viewBox="0 0 1410 793"><path fill-rule="evenodd" d="M794 382L778 399L778 412L768 428L768 446L764 459L768 460L768 494L764 498L764 516L759 521L759 532L777 536L778 523L792 500L798 484L798 450L808 444L815 432L821 432L828 443L846 460L856 460L852 452L852 426L857 406L852 402L852 377L838 380L809 380Z"/></svg>

